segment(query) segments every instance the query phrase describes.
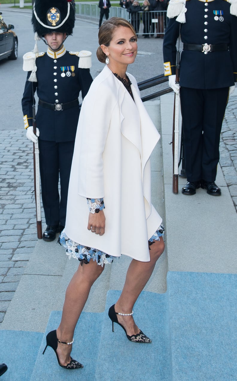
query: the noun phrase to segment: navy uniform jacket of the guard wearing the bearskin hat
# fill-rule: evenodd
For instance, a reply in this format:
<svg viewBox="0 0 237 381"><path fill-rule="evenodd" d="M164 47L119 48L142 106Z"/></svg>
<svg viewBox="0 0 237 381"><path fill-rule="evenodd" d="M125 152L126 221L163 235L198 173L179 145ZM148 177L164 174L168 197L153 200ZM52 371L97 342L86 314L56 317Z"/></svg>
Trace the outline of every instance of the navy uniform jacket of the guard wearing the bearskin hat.
<svg viewBox="0 0 237 381"><path fill-rule="evenodd" d="M61 48L60 51L65 50ZM53 53L53 54L57 54ZM52 54L52 52L51 52ZM83 58L82 58L83 59ZM78 99L79 92L82 92L82 98L87 94L92 83L90 69L81 69L78 67L79 57L76 54L70 54L65 50L65 54L55 57L48 56L47 53L36 58L36 77L37 82L25 83L25 90L22 98L22 110L25 128L32 126L32 104L33 92L37 89L38 98L41 101L55 104L68 103ZM61 77L62 69L73 67L75 75ZM65 70L68 71L67 69ZM72 70L70 70L72 74ZM31 72L28 72L27 79ZM33 84L33 92L32 92ZM76 136L77 123L79 118L79 106L67 110L54 111L38 105L36 114L36 126L40 130L39 139L55 142L74 141Z"/></svg>

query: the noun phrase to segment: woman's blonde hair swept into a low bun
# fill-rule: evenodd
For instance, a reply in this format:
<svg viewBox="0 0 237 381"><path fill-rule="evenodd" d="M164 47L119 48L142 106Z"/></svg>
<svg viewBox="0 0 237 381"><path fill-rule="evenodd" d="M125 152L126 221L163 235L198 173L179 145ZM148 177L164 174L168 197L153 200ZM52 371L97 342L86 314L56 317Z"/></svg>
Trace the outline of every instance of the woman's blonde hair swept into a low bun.
<svg viewBox="0 0 237 381"><path fill-rule="evenodd" d="M103 24L101 25L99 29L99 33L98 33L99 44L109 46L114 35L114 30L116 28L119 28L120 26L130 28L131 31L134 33L134 36L136 37L136 32L128 20L125 20L121 17L111 17L111 19L103 22ZM137 40L137 37L136 37L136 40ZM100 46L98 47L96 51L96 56L100 62L105 64L106 54L103 52Z"/></svg>

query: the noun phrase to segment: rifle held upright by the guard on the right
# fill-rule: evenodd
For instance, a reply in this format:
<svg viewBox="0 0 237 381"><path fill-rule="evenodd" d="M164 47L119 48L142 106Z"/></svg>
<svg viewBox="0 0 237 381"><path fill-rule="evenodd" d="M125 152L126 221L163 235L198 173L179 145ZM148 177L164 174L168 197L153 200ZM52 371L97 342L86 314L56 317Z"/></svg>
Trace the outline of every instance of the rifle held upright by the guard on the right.
<svg viewBox="0 0 237 381"><path fill-rule="evenodd" d="M179 83L180 49L177 50L176 58L176 83ZM172 190L174 194L179 193L179 94L174 94L174 116L172 132L172 154L173 154L173 181Z"/></svg>

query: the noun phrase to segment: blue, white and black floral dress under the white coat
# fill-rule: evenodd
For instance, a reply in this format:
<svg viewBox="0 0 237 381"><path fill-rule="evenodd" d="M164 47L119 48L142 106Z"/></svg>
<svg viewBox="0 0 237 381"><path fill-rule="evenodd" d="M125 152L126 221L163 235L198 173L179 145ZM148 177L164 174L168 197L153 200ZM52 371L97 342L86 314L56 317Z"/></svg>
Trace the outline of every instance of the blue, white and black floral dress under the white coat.
<svg viewBox="0 0 237 381"><path fill-rule="evenodd" d="M127 78L126 80L119 77L119 75L115 73L114 75L123 83L125 88L128 90L129 94L133 98L133 93L131 90L131 82L128 76L126 75L126 78ZM98 213L100 210L103 210L105 207L103 199L87 199L87 205L88 205L90 213ZM156 230L156 232L149 239L148 245L149 246L152 245L154 241L157 241L157 240L160 241L160 237L163 235L164 235L164 227L161 224ZM81 265L84 263L87 264L90 262L91 259L93 259L93 261L96 261L98 265L103 267L105 263L112 263L114 258L117 258L112 255L106 254L101 250L97 250L96 248L83 246L83 245L80 245L80 243L74 242L73 240L68 238L64 230L60 234L58 243L60 243L60 245L63 245L66 248L66 254L69 256L69 259L71 259L72 257L77 258L80 261Z"/></svg>

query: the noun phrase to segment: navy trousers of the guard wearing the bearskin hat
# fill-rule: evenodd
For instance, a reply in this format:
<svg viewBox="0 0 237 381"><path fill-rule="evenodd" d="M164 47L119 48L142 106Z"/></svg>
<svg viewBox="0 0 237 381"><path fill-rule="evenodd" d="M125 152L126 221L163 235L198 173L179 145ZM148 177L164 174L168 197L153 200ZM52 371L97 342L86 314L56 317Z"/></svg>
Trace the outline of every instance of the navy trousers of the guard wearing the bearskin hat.
<svg viewBox="0 0 237 381"><path fill-rule="evenodd" d="M74 141L56 143L38 140L38 142L41 195L46 224L65 226ZM58 190L59 178L60 195Z"/></svg>

